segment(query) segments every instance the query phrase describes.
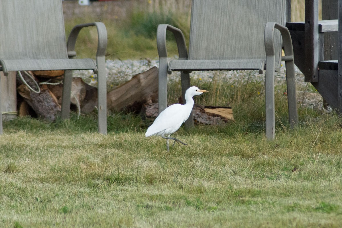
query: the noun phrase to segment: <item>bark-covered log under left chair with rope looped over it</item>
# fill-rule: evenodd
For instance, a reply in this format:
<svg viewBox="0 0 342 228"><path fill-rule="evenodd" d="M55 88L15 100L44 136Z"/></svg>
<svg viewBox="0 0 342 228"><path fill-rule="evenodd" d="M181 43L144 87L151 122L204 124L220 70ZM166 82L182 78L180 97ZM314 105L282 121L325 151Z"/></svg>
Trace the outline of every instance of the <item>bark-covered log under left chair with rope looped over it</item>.
<svg viewBox="0 0 342 228"><path fill-rule="evenodd" d="M37 81L31 71L27 72L34 80ZM31 86L31 88L37 89L32 79L29 78L24 72L22 72L22 76L26 83ZM61 111L61 106L58 104L57 98L54 96L54 94L48 89L48 86L41 85L40 93L35 93L20 80L18 80L18 82L21 84L17 88L18 93L24 98L25 102L32 107L37 116L48 121L54 121L57 117L57 113Z"/></svg>

